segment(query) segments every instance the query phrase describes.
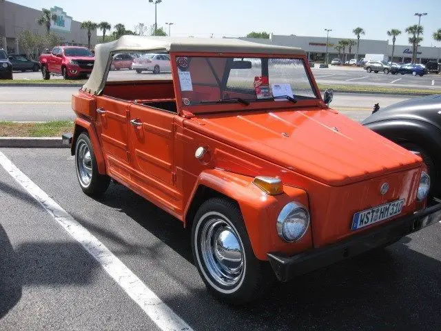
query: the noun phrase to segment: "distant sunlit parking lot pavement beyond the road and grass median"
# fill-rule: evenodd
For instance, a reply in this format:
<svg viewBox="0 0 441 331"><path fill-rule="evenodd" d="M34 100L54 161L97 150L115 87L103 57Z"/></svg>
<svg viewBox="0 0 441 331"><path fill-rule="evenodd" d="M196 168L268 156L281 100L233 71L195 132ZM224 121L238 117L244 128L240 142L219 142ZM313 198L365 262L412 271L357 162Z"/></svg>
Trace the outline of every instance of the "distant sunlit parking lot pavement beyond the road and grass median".
<svg viewBox="0 0 441 331"><path fill-rule="evenodd" d="M368 74L362 68L338 67L312 68L312 72L318 83L330 83L340 85L374 85L383 87L408 87L408 88L433 88L441 90L441 74L426 74L423 77L413 77L411 74ZM136 74L134 70L113 71L110 74L115 80L124 79L152 79L165 77L167 74L154 75L152 72ZM41 79L41 72L14 72L14 79ZM62 79L51 77L50 79ZM433 85L432 85L433 83Z"/></svg>

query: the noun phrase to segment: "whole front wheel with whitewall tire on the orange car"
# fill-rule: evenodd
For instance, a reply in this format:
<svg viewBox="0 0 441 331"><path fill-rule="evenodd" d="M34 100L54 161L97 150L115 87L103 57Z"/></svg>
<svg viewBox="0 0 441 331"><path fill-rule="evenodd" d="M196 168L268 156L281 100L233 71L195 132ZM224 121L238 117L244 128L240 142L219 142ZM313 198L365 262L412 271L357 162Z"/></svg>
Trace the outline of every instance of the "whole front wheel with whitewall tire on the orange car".
<svg viewBox="0 0 441 331"><path fill-rule="evenodd" d="M265 288L264 262L254 256L242 214L232 201L213 198L201 205L192 226L192 251L214 297L239 305Z"/></svg>

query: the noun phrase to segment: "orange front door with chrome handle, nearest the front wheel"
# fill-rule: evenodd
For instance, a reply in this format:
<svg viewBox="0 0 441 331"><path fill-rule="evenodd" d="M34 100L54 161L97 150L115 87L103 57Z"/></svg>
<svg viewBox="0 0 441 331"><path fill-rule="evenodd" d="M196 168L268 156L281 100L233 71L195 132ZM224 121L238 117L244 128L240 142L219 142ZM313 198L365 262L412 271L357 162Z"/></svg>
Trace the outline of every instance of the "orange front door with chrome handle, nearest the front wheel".
<svg viewBox="0 0 441 331"><path fill-rule="evenodd" d="M181 212L176 190L174 117L177 114L138 103L130 106L130 160L139 190L148 199Z"/></svg>

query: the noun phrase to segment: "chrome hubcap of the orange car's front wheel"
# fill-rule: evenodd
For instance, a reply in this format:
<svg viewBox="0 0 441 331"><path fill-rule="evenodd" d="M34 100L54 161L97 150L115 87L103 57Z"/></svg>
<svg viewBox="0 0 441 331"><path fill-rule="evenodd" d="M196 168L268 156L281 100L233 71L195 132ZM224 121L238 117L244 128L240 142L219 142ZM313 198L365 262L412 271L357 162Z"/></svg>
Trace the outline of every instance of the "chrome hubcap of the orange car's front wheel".
<svg viewBox="0 0 441 331"><path fill-rule="evenodd" d="M201 232L201 252L209 274L222 285L234 285L243 273L243 247L223 219L211 219Z"/></svg>

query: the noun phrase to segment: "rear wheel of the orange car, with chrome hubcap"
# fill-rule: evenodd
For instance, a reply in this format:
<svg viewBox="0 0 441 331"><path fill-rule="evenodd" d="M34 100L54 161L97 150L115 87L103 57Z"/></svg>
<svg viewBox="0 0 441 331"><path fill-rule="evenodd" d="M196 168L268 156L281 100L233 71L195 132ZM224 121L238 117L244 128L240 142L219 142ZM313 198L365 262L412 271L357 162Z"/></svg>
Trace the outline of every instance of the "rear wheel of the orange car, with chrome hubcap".
<svg viewBox="0 0 441 331"><path fill-rule="evenodd" d="M99 174L94 148L87 133L81 133L75 144L76 177L81 190L90 197L100 197L109 187L110 177Z"/></svg>

